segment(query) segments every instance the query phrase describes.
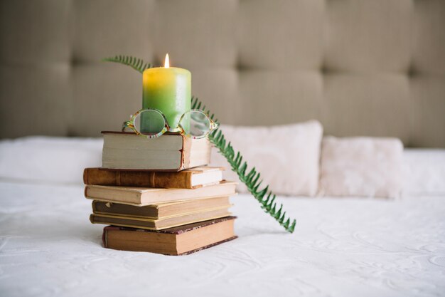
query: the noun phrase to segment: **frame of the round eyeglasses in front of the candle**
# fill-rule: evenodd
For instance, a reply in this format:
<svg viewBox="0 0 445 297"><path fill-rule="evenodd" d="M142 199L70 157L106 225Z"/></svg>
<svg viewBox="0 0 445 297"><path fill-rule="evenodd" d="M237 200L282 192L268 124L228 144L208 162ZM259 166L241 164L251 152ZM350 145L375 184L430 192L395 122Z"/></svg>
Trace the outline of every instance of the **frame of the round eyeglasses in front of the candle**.
<svg viewBox="0 0 445 297"><path fill-rule="evenodd" d="M162 118L163 118L163 121L164 121L165 125L163 126L163 129L160 132L158 132L158 133L156 133L154 135L145 135L145 134L142 134L141 132L139 132L138 130L136 130L136 127L134 127L134 120L139 115L139 113L142 113L145 110L155 110L155 111L157 111L158 113L160 113L162 115ZM181 120L183 119L184 115L186 115L186 113L190 113L192 111L197 111L199 113L203 113L209 120L210 128L209 128L208 132L206 132L205 135L203 135L203 136L191 135L190 133L187 133L186 130L184 130L184 127L181 125ZM217 123L214 120L212 120L208 116L207 113L203 112L203 110L191 109L191 110L186 111L186 113L183 113L183 115L181 115L181 118L178 121L178 127L172 129L170 127L170 125L168 125L167 118L163 114L163 112L161 112L161 110L158 110L156 108L142 108L142 109L136 111L136 113L134 113L130 117L130 120L126 120L126 121L124 121L124 123L122 123L122 132L124 132L124 130L128 127L130 129L132 129L136 133L136 135L139 135L141 137L146 137L146 138L156 138L156 137L159 137L159 136L163 135L165 132L181 132L181 134L186 135L187 137L191 137L193 139L200 139L200 138L207 137L207 135L209 135L210 132L212 132L213 130L216 130L216 129L218 129L218 127L220 127L220 123Z"/></svg>

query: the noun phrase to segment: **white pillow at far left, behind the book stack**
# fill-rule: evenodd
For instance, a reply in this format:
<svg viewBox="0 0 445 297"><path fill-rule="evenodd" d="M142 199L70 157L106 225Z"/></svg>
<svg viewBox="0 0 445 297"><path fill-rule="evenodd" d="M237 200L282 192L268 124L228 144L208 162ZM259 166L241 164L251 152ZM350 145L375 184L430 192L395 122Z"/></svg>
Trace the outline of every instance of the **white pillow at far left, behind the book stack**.
<svg viewBox="0 0 445 297"><path fill-rule="evenodd" d="M0 179L83 183L102 164L102 138L23 137L0 141Z"/></svg>

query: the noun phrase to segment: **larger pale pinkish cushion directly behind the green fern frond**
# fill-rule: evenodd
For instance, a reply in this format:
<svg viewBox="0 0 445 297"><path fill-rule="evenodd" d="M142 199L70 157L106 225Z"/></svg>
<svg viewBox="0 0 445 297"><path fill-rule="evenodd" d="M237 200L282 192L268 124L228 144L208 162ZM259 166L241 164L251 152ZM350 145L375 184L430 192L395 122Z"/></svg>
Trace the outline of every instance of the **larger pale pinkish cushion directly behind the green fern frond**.
<svg viewBox="0 0 445 297"><path fill-rule="evenodd" d="M276 194L313 196L318 187L318 164L323 127L316 120L270 127L220 127L247 161L247 170L255 167L263 186ZM225 157L213 148L211 165L226 167L225 179L239 182L238 191L247 188L232 172Z"/></svg>

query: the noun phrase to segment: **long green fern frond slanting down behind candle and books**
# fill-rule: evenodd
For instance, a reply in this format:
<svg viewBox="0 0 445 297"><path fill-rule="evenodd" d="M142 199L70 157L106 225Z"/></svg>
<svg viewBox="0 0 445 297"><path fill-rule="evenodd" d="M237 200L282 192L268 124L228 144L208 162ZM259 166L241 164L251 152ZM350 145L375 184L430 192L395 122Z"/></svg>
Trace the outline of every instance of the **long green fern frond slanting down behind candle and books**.
<svg viewBox="0 0 445 297"><path fill-rule="evenodd" d="M104 58L102 61L121 63L132 67L140 73L144 73L144 70L151 68L149 63L144 63L142 59L134 58L132 56L115 56L112 58ZM215 115L210 115L210 111L205 108L205 105L203 105L198 98L191 98L191 108L203 110L203 112L207 113L212 120L218 122ZM250 194L257 199L261 208L264 209L264 212L277 220L286 231L293 233L296 220L294 219L291 224L291 219L289 217L286 219L286 212L283 212L283 204L279 204L279 209L277 210L277 203L275 202L276 195L269 190L269 186L259 189L262 184L262 179L260 179L261 174L259 174L254 167L250 171L247 170L247 162L242 162L242 155L240 152L236 152L235 154L235 150L230 142L226 143L221 130L211 132L210 135L208 135L208 138L210 142L218 148L220 154L227 159L232 170L237 173L240 181L247 186Z"/></svg>

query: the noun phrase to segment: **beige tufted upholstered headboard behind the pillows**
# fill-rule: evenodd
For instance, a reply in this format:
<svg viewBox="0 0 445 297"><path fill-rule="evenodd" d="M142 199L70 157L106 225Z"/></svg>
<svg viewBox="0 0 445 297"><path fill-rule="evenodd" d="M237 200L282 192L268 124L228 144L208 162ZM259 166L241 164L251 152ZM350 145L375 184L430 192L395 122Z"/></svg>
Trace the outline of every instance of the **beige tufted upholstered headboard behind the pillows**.
<svg viewBox="0 0 445 297"><path fill-rule="evenodd" d="M141 108L134 55L222 123L445 147L443 0L0 0L0 137L98 136Z"/></svg>

